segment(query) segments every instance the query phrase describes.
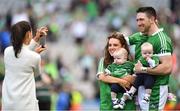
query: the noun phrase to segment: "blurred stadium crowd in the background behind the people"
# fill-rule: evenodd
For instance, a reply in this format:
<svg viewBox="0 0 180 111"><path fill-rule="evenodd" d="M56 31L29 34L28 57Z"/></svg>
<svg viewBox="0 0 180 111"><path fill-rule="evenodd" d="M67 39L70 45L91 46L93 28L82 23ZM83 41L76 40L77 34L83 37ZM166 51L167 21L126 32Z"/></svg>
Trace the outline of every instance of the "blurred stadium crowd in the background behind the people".
<svg viewBox="0 0 180 111"><path fill-rule="evenodd" d="M146 1L146 0L142 0ZM174 69L170 89L180 105L180 11L178 0L148 0L158 12L158 23L172 37ZM0 0L0 80L4 76L3 51L10 45L10 27L21 20L32 29L47 26L47 51L41 54L43 74L36 77L41 110L91 110L99 108L95 78L107 35L137 31L135 14L139 0Z"/></svg>

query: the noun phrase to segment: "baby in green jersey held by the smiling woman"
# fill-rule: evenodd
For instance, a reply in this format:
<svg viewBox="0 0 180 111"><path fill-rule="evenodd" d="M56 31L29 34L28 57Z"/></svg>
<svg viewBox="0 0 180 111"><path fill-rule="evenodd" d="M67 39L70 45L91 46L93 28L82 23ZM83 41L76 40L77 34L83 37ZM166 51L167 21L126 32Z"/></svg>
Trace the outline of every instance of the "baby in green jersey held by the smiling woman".
<svg viewBox="0 0 180 111"><path fill-rule="evenodd" d="M115 51L113 58L114 62L105 69L107 75L122 78L129 74L133 74L134 64L127 61L128 52L126 49L121 48ZM117 99L118 92L125 93L125 88L121 87L119 84L111 84L111 99L114 109L119 108L119 100Z"/></svg>

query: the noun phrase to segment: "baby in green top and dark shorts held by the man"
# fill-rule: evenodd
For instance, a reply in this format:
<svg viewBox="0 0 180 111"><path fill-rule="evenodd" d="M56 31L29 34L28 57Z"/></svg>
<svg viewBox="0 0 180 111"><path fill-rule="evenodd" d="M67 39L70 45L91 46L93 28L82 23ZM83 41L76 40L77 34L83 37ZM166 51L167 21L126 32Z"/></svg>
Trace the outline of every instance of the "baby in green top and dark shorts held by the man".
<svg viewBox="0 0 180 111"><path fill-rule="evenodd" d="M159 58L153 55L152 44L148 42L143 43L141 45L141 55L142 56L140 57L138 62L142 63L143 65L142 70L144 70L145 72L146 72L145 67L155 68L159 64ZM144 104L149 103L154 82L155 82L155 78L153 75L149 75L148 73L137 73L133 86L130 88L129 91L123 94L119 107L123 109L125 106L125 101L127 99L132 99L138 87L141 85L144 85L145 87L145 95L141 102Z"/></svg>

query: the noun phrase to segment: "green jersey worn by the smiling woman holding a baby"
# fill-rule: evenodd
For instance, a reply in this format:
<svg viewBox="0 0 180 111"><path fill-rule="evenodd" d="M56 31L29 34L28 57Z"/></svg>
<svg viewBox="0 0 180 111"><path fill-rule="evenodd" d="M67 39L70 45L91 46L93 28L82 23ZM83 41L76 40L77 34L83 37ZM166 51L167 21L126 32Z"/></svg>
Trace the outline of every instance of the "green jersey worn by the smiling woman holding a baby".
<svg viewBox="0 0 180 111"><path fill-rule="evenodd" d="M104 73L104 58L101 58L98 65L97 75ZM100 87L100 110L113 110L112 101L111 101L111 88L108 83L99 81ZM123 93L118 93L118 98L121 98ZM135 110L136 105L134 100L127 100L126 106L123 110Z"/></svg>

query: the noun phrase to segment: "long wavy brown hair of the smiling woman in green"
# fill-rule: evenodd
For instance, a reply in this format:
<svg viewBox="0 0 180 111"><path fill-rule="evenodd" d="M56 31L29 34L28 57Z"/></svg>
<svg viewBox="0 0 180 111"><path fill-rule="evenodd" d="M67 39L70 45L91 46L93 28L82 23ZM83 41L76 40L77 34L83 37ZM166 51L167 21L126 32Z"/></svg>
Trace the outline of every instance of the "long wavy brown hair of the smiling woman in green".
<svg viewBox="0 0 180 111"><path fill-rule="evenodd" d="M111 33L108 38L107 38L107 44L105 46L105 57L104 57L104 67L107 67L109 64L111 64L114 60L114 58L110 55L109 51L108 51L108 46L109 46L109 40L111 38L115 38L117 40L119 40L120 44L122 45L123 48L125 48L128 52L128 55L130 54L129 53L129 47L128 47L128 44L124 38L124 35L121 34L120 32L113 32Z"/></svg>

